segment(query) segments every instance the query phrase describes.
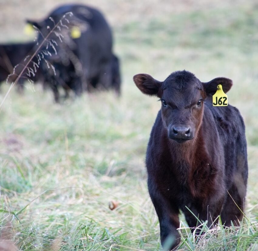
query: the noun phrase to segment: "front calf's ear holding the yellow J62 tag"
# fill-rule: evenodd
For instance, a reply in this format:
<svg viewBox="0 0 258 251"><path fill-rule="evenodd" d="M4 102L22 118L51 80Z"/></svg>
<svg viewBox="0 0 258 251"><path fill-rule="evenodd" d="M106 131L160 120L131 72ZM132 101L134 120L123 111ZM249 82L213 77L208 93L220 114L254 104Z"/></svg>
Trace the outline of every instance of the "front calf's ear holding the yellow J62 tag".
<svg viewBox="0 0 258 251"><path fill-rule="evenodd" d="M224 91L224 93L228 92L231 88L231 86L233 85L233 82L231 79L228 79L228 78L222 78L222 77L219 77L219 78L215 78L209 82L206 82L206 83L202 83L203 86L204 86L204 89L205 89L205 92L208 94L215 94L216 91L217 91L217 86L219 84L222 85L222 89Z"/></svg>

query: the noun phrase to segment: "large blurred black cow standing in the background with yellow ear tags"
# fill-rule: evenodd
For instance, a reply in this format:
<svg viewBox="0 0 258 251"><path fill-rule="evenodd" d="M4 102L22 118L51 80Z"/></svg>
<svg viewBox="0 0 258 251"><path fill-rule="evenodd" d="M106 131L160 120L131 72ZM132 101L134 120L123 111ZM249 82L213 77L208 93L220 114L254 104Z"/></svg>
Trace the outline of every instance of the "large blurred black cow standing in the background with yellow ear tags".
<svg viewBox="0 0 258 251"><path fill-rule="evenodd" d="M72 12L73 16L67 15L64 18L68 12ZM67 19L69 22L66 22ZM49 40L54 39L58 42L58 46L55 46L57 55L47 58L53 64L56 75L48 66L44 64L40 66L46 75L45 79L53 89L55 100L57 102L59 100L58 86L66 90L66 95L69 89L77 95L85 90L114 89L119 95L121 85L119 60L112 52L112 32L104 16L95 8L71 4L56 8L43 21L27 22L39 29L40 43L43 36L46 37L50 29L53 29L60 20L69 29L59 25L60 33L64 36L63 42L59 42L55 32L49 36ZM73 36L73 29L77 29L79 36ZM50 47L49 49L51 50ZM51 54L54 54L53 50Z"/></svg>

